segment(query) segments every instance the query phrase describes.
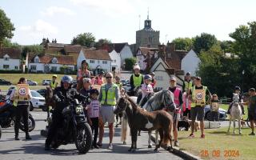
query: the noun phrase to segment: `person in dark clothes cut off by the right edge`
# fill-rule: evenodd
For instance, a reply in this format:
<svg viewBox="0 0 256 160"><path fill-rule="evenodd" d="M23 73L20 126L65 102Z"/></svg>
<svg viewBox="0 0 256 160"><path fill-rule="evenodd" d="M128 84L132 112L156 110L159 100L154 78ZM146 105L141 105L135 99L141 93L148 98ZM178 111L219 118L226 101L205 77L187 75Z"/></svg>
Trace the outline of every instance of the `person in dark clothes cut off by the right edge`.
<svg viewBox="0 0 256 160"><path fill-rule="evenodd" d="M251 133L249 135L255 135L254 133L254 123L256 122L256 93L254 88L249 90L250 98L249 102L246 102L249 105L248 108L248 118L250 120Z"/></svg>

